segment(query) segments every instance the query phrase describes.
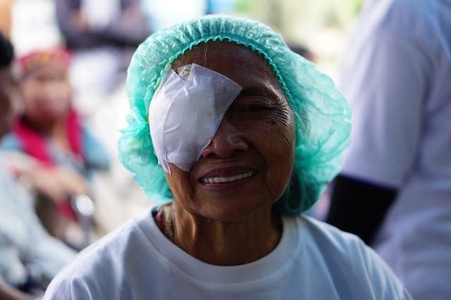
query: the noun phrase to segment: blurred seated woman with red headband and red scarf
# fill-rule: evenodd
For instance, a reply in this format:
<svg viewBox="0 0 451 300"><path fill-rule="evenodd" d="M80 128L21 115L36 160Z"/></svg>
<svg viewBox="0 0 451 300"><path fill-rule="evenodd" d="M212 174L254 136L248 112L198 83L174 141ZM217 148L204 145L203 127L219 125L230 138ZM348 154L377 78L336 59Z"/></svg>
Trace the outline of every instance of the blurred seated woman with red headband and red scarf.
<svg viewBox="0 0 451 300"><path fill-rule="evenodd" d="M109 160L71 105L69 62L70 53L65 48L35 51L19 58L25 110L1 148L24 152L38 167L43 167L32 180L37 185L39 181L53 184L45 184L46 193L37 201L38 214L52 235L82 247L84 241L80 237L67 235L68 225L73 225L78 217L68 200L73 195L89 193L92 173L108 168ZM17 161L10 162L9 167L18 175L27 174Z"/></svg>

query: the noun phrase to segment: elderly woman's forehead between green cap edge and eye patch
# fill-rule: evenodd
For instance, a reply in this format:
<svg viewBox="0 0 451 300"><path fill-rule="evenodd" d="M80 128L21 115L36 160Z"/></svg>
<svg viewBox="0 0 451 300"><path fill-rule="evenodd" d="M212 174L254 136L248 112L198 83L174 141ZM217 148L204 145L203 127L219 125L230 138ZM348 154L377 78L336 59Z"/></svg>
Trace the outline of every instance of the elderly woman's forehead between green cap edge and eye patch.
<svg viewBox="0 0 451 300"><path fill-rule="evenodd" d="M276 74L263 56L242 45L226 41L199 44L173 62L173 69L196 63L232 79L246 89L260 83L280 89Z"/></svg>

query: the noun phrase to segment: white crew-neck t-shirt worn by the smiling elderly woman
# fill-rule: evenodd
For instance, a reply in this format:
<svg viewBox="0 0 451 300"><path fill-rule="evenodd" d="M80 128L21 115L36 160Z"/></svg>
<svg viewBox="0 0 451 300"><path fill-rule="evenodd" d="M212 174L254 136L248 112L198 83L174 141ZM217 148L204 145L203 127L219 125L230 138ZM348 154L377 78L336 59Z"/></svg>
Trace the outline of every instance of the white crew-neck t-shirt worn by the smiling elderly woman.
<svg viewBox="0 0 451 300"><path fill-rule="evenodd" d="M81 252L44 299L411 299L354 235L308 217L283 218L276 249L214 266L170 242L147 212Z"/></svg>

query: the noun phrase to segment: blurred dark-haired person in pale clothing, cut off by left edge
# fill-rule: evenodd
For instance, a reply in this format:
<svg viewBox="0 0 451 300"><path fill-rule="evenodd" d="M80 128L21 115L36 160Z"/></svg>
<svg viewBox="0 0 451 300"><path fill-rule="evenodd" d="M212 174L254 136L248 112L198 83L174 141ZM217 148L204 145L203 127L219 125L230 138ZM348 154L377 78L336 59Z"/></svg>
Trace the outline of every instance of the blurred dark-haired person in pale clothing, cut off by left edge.
<svg viewBox="0 0 451 300"><path fill-rule="evenodd" d="M12 65L13 46L0 34L0 138L22 106ZM4 158L0 151L0 299L35 299L76 252L39 223L32 197L8 173Z"/></svg>

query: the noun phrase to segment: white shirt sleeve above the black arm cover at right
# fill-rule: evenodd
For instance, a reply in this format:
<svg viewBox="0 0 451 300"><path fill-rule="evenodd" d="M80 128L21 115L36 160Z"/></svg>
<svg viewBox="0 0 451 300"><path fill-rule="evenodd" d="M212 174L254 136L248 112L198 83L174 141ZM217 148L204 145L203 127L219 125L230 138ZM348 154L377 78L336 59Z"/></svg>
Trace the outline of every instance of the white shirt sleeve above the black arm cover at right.
<svg viewBox="0 0 451 300"><path fill-rule="evenodd" d="M367 33L357 32L342 69L342 91L352 106L342 174L397 188L418 149L426 58L401 32L376 25Z"/></svg>

